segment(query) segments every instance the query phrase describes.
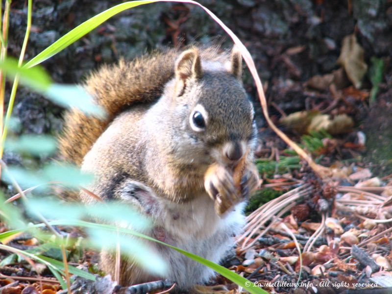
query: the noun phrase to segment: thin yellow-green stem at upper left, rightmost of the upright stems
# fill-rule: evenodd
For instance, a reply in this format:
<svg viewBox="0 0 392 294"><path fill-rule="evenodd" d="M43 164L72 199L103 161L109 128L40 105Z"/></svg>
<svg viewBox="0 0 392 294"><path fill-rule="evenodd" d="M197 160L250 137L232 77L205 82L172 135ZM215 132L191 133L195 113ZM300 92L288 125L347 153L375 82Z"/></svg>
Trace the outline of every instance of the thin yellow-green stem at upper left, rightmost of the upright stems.
<svg viewBox="0 0 392 294"><path fill-rule="evenodd" d="M23 40L21 55L19 56L18 67L22 67L23 59L25 57L28 37L30 36L31 14L32 14L31 12L32 12L32 0L28 0L27 1L27 26L26 26L26 33L25 33L25 39ZM4 142L5 142L5 138L7 137L7 130L8 130L9 119L11 117L12 109L14 107L14 101L15 101L15 96L16 96L16 90L18 89L18 83L19 83L19 74L16 74L15 78L14 78L14 83L12 85L11 95L10 95L9 102L8 102L7 114L5 116L5 123L4 123L3 131L2 131L2 134L1 134L0 158L3 155ZM0 101L0 103L1 103L1 101Z"/></svg>

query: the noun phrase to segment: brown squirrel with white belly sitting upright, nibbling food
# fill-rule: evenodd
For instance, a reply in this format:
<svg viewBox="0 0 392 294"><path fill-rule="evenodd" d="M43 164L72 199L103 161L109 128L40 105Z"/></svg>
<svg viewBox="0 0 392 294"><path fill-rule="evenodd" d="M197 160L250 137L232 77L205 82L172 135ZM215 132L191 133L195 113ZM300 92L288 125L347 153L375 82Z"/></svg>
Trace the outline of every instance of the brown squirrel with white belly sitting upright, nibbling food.
<svg viewBox="0 0 392 294"><path fill-rule="evenodd" d="M259 184L254 109L241 76L236 48L167 49L105 65L84 87L107 116L68 111L60 155L95 175L91 192L149 216L153 228L147 235L219 263L244 225L245 200ZM83 191L79 198L96 201ZM214 276L170 248L152 246L169 267L159 278L175 281L178 289ZM114 276L114 265L115 255L102 251L102 269ZM121 285L156 278L122 257Z"/></svg>

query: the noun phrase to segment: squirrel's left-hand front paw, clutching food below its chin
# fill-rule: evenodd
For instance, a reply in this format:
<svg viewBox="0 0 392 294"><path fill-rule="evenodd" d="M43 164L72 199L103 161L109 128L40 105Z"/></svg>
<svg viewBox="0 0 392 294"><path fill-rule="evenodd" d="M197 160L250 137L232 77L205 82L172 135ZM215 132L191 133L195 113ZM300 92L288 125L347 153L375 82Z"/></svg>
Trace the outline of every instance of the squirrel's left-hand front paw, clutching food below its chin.
<svg viewBox="0 0 392 294"><path fill-rule="evenodd" d="M233 176L221 165L214 164L208 169L204 187L208 195L215 200L215 212L219 216L242 200L234 186Z"/></svg>

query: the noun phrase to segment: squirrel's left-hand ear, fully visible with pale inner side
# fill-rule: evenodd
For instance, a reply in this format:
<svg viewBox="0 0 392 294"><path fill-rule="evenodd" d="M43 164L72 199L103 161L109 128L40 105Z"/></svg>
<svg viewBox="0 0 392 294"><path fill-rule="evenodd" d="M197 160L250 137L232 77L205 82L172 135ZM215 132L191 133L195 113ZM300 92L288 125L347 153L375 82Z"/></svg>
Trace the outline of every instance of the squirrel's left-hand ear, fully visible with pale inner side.
<svg viewBox="0 0 392 294"><path fill-rule="evenodd" d="M175 62L174 72L176 77L176 90L180 96L184 92L189 79L199 79L203 76L198 50L192 48L182 52Z"/></svg>

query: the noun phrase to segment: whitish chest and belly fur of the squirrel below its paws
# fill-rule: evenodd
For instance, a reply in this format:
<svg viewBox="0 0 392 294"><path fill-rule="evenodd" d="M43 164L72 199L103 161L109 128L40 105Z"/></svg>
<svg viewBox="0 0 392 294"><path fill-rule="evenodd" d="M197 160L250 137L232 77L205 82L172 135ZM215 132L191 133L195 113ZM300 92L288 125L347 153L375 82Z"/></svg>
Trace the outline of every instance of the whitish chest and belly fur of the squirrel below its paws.
<svg viewBox="0 0 392 294"><path fill-rule="evenodd" d="M222 218L215 213L214 201L207 195L185 204L162 200L161 205L165 208L155 219L155 225L165 229L165 242L215 263L233 247L233 237L241 231L245 221L242 214L245 202L237 204ZM207 282L214 275L213 270L172 249L160 247L158 250L169 265L165 278L177 281L180 287Z"/></svg>

